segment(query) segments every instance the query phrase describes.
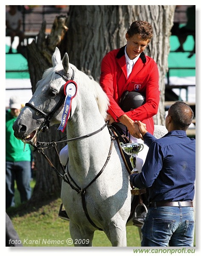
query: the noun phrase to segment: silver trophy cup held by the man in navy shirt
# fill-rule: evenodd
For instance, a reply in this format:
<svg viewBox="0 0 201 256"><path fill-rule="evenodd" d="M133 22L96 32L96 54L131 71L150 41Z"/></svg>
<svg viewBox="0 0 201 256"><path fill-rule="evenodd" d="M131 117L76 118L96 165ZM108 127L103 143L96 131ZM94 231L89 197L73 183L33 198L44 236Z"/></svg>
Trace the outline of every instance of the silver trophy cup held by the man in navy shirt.
<svg viewBox="0 0 201 256"><path fill-rule="evenodd" d="M124 144L122 142L119 143L122 147L123 151L130 156L130 163L133 167L133 170L131 173L138 173L138 169L136 169L136 155L142 151L144 148L144 144L140 143L127 143Z"/></svg>

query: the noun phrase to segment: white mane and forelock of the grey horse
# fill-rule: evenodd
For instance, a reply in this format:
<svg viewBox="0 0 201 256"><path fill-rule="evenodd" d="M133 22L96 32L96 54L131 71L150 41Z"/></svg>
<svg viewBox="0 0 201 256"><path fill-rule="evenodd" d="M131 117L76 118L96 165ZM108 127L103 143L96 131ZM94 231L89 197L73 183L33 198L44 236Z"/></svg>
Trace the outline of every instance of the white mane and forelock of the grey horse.
<svg viewBox="0 0 201 256"><path fill-rule="evenodd" d="M109 99L106 93L102 90L102 87L98 82L96 82L92 76L86 75L84 72L78 70L73 64L70 64L70 67L74 69L75 74L79 73L79 79L81 84L85 84L85 87L88 86L88 90L90 90L97 102L99 112L105 119L107 115L108 105L109 105ZM54 81L55 72L63 70L62 62L60 64L57 64L55 67L50 67L43 73L42 79L50 79L51 81Z"/></svg>

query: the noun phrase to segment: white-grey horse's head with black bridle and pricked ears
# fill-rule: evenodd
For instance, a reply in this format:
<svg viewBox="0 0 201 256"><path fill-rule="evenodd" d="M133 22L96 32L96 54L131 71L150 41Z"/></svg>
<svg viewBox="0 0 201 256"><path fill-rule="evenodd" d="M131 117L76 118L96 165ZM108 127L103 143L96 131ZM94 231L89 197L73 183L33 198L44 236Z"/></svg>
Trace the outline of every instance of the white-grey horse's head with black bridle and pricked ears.
<svg viewBox="0 0 201 256"><path fill-rule="evenodd" d="M73 70L68 54L61 61L59 49L52 55L53 67L46 70L36 84L36 91L17 120L14 122L14 136L25 143L35 144L40 131L59 123L65 101L64 84L72 79ZM73 108L71 109L73 111Z"/></svg>

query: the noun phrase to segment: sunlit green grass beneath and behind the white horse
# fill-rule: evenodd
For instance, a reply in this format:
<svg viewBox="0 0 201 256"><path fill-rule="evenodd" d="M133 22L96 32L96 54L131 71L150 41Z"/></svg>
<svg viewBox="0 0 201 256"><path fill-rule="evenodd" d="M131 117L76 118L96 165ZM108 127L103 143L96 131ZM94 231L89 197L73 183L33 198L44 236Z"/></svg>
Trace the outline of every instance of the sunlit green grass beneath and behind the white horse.
<svg viewBox="0 0 201 256"><path fill-rule="evenodd" d="M35 181L31 182L33 188ZM11 217L14 228L20 236L23 245L26 247L72 247L67 244L70 239L69 221L58 218L61 199L57 198L47 201L39 209L31 209L23 213L21 211L19 192L15 192L16 207L8 209L7 213ZM14 214L12 213L14 212ZM82 218L82 216L80 216ZM60 243L60 244L59 244ZM127 247L140 246L138 228L127 227ZM103 231L95 231L93 247L111 247L111 243Z"/></svg>

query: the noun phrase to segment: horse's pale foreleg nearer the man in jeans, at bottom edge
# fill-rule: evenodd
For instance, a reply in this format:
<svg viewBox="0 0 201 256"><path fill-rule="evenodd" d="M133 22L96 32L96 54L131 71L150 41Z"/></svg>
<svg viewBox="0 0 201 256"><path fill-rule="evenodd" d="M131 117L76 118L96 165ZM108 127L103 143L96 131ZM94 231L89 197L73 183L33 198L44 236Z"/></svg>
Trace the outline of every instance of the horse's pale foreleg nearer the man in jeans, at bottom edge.
<svg viewBox="0 0 201 256"><path fill-rule="evenodd" d="M111 220L108 232L105 231L105 234L108 236L112 246L121 246L126 247L126 223L125 221Z"/></svg>

